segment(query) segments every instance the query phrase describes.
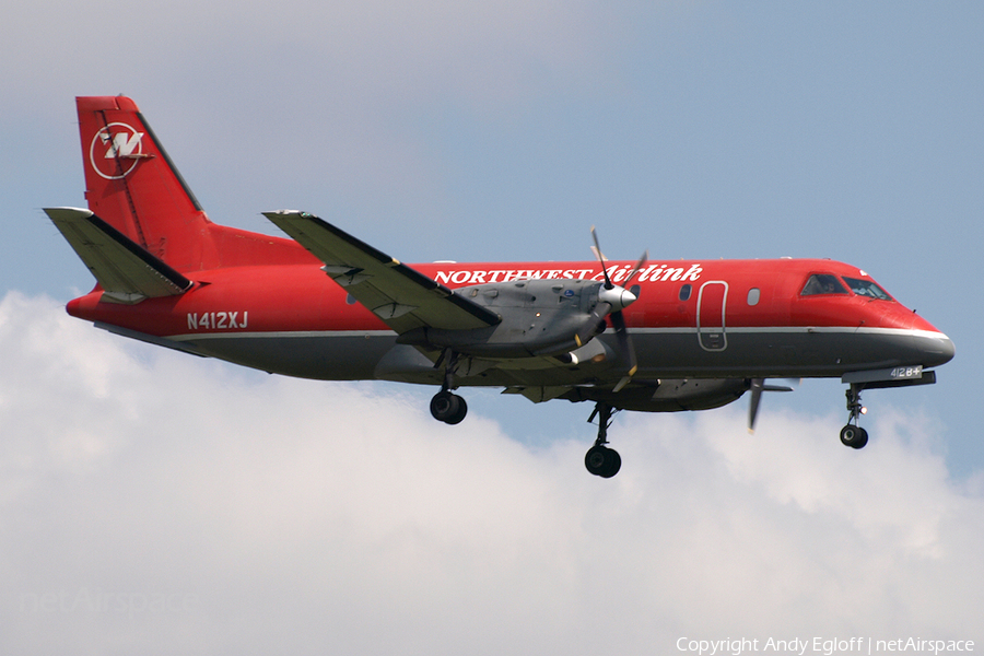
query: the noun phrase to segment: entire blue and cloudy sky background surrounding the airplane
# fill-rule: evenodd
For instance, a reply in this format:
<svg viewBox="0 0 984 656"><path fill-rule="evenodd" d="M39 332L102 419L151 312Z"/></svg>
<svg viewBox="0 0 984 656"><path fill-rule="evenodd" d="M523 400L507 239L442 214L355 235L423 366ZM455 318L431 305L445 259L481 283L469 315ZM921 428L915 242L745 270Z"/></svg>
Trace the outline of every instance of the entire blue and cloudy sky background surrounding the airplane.
<svg viewBox="0 0 984 656"><path fill-rule="evenodd" d="M975 3L95 1L4 8L0 652L670 653L977 640ZM266 377L94 330L39 208L126 93L210 216L403 261L832 257L957 343L928 388L692 415ZM972 290L968 293L967 288ZM101 605L102 602L102 605ZM141 608L145 604L145 608ZM151 607L152 604L156 606Z"/></svg>

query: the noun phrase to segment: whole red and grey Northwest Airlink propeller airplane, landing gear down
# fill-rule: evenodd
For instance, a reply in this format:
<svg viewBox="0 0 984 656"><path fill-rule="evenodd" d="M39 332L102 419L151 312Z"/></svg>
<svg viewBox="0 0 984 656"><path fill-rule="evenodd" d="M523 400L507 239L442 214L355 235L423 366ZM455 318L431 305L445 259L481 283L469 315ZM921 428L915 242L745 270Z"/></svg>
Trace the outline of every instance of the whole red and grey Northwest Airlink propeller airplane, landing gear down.
<svg viewBox="0 0 984 656"><path fill-rule="evenodd" d="M587 470L611 478L620 410L718 408L753 430L784 378L840 378L841 442L864 447L866 389L936 382L953 342L864 270L830 259L406 265L332 223L265 212L288 236L212 223L126 96L78 97L87 209L45 212L96 279L67 304L97 328L269 373L594 403Z"/></svg>

